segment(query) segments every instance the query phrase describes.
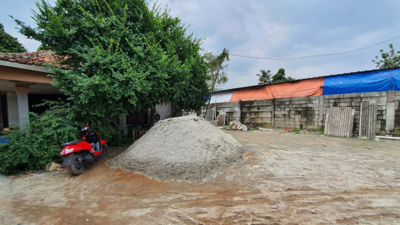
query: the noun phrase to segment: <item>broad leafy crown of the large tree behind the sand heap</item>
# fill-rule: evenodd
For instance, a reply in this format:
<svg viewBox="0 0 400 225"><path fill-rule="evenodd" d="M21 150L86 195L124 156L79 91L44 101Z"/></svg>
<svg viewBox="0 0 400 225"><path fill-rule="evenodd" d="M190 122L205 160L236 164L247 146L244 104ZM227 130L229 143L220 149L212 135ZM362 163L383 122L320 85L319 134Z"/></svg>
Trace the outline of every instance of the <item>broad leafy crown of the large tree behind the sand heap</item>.
<svg viewBox="0 0 400 225"><path fill-rule="evenodd" d="M20 32L52 49L71 69L54 67L54 85L82 115L111 118L173 102L197 110L209 89L201 39L168 11L144 0L57 0L37 3L37 27Z"/></svg>

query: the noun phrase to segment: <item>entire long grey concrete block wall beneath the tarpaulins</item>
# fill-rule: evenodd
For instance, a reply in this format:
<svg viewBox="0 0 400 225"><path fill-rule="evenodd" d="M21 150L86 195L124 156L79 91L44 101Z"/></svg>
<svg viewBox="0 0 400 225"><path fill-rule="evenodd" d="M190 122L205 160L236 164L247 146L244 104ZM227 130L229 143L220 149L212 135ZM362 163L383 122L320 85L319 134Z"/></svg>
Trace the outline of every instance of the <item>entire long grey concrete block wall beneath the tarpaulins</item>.
<svg viewBox="0 0 400 225"><path fill-rule="evenodd" d="M400 91L338 94L217 103L217 110L227 112L227 119L246 121L254 117L257 126L321 129L329 107L351 107L355 110L353 134L360 128L363 100L377 100L377 135L400 136ZM210 104L215 108L215 104ZM201 114L204 115L205 107ZM249 122L249 121L248 121Z"/></svg>

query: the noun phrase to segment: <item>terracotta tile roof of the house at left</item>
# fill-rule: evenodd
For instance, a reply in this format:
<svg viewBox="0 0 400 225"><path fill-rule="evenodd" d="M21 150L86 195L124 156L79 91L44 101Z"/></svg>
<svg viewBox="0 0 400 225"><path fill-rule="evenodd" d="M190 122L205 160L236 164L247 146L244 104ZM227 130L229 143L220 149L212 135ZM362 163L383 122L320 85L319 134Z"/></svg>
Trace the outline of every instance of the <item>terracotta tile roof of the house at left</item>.
<svg viewBox="0 0 400 225"><path fill-rule="evenodd" d="M69 68L68 65L59 64L58 61L60 61L60 59L61 59L60 56L56 55L51 50L21 52L21 53L0 52L0 60L34 64L34 65L43 65L44 63L54 63L60 68L63 69Z"/></svg>

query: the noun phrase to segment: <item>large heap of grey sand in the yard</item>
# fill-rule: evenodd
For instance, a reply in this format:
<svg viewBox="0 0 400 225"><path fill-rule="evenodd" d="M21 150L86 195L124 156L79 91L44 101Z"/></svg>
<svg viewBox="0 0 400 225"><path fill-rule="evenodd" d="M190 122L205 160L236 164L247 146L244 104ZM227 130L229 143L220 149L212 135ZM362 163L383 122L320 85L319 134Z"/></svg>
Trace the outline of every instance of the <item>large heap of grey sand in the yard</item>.
<svg viewBox="0 0 400 225"><path fill-rule="evenodd" d="M110 166L162 181L212 178L242 160L245 149L231 135L196 116L157 122Z"/></svg>

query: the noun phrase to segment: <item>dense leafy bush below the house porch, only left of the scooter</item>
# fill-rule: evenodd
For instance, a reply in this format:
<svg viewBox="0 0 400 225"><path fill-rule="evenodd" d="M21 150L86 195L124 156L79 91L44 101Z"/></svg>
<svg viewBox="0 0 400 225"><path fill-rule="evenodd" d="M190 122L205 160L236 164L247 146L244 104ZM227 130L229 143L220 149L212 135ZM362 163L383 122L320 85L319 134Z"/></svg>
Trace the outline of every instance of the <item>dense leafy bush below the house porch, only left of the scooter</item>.
<svg viewBox="0 0 400 225"><path fill-rule="evenodd" d="M41 115L31 113L25 129L17 128L4 133L9 143L0 147L1 173L13 174L41 168L51 162L53 156L59 155L59 144L78 138L71 105L45 104L49 104L50 108Z"/></svg>

